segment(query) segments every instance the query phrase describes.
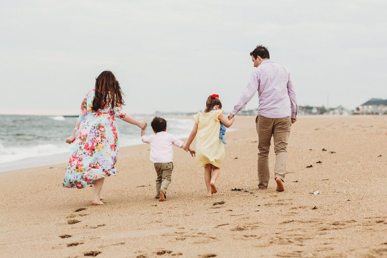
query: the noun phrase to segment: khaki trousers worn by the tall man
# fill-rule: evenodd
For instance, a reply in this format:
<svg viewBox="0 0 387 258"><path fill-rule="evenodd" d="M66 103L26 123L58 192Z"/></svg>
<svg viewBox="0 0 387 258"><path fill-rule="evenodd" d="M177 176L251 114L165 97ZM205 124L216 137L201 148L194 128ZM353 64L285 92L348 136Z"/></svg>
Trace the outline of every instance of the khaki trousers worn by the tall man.
<svg viewBox="0 0 387 258"><path fill-rule="evenodd" d="M288 138L292 125L290 117L266 118L258 115L255 119L256 132L258 134L258 179L260 189L266 189L269 184L269 150L272 136L274 137L274 152L276 153L276 165L274 178L285 180L285 167L287 158Z"/></svg>

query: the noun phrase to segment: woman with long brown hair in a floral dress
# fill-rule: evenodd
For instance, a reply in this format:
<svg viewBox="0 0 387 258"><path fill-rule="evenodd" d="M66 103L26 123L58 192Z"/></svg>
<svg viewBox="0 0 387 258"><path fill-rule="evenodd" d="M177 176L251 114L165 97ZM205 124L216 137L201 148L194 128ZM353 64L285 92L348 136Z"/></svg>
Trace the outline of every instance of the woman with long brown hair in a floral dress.
<svg viewBox="0 0 387 258"><path fill-rule="evenodd" d="M81 114L70 145L70 161L63 187L84 188L93 184L93 205L103 204L101 189L105 177L116 175L118 129L114 116L145 129L145 121L137 121L122 110L124 101L118 81L110 71L102 72L82 101Z"/></svg>

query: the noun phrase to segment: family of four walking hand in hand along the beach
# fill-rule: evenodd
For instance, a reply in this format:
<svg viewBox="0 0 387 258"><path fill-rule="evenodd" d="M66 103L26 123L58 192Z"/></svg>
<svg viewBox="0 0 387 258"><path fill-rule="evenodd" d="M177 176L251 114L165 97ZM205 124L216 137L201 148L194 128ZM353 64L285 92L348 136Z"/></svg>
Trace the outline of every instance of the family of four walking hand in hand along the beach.
<svg viewBox="0 0 387 258"><path fill-rule="evenodd" d="M260 189L269 184L269 149L274 138L276 162L274 178L277 191L284 191L287 145L291 124L296 122L297 99L289 71L270 60L265 46L257 46L251 53L254 70L241 97L228 117L224 114L219 95L207 98L204 112L194 116L195 123L184 143L167 133L167 121L155 117L151 122L152 135L146 135L145 121L137 121L127 115L122 106L122 91L110 71L102 72L95 88L82 101L81 114L73 134L67 138L70 143L70 159L63 187L84 188L93 184L92 204L102 204L100 195L104 178L116 175L119 135L115 117L141 128L141 138L151 146L150 159L156 170L156 196L165 201L167 188L173 170L173 145L189 151L196 157L197 166L204 167L207 196L216 193L216 180L225 157L224 133L232 126L234 116L241 111L256 92L259 94L259 115L255 119L258 134L257 172ZM190 148L196 138L195 150Z"/></svg>

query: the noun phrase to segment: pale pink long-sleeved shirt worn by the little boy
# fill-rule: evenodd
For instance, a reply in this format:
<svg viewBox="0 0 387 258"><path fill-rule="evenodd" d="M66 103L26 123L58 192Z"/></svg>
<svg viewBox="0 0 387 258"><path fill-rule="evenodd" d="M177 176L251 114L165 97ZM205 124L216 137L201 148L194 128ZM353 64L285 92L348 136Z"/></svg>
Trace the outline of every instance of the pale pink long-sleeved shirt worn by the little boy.
<svg viewBox="0 0 387 258"><path fill-rule="evenodd" d="M184 144L184 142L167 132L158 132L150 136L143 135L141 139L143 142L151 144L150 159L154 163L173 162L172 144L179 148Z"/></svg>

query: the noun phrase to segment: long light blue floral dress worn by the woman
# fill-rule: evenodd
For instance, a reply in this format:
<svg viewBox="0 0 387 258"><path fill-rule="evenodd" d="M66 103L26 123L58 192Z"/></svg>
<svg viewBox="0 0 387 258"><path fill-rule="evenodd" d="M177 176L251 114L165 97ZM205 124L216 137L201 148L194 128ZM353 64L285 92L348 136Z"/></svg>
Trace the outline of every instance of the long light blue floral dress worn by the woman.
<svg viewBox="0 0 387 258"><path fill-rule="evenodd" d="M95 90L82 101L78 122L81 125L70 145L70 160L63 187L84 188L94 180L116 175L114 167L118 153L118 129L115 121L125 117L122 106L110 104L97 112L92 110Z"/></svg>

